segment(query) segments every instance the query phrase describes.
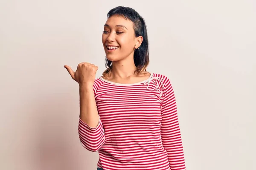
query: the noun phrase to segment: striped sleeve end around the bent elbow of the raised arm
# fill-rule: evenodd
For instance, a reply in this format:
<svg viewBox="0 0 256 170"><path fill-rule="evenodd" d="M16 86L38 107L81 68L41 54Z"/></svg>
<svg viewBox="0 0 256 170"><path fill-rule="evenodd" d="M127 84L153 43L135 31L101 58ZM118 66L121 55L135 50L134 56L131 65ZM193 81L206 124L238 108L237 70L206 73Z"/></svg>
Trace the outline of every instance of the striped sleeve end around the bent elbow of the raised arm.
<svg viewBox="0 0 256 170"><path fill-rule="evenodd" d="M81 144L92 152L97 152L105 143L105 132L99 117L97 127L90 127L79 118L79 139Z"/></svg>

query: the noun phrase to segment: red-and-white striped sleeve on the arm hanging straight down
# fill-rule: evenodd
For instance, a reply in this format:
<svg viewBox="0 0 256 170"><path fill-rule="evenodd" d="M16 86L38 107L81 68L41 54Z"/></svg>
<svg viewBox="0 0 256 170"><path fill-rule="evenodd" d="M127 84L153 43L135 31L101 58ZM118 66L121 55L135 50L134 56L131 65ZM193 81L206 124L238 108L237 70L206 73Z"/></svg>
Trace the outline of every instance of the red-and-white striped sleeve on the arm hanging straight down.
<svg viewBox="0 0 256 170"><path fill-rule="evenodd" d="M171 170L186 170L175 94L166 77L163 88L161 139L168 153Z"/></svg>

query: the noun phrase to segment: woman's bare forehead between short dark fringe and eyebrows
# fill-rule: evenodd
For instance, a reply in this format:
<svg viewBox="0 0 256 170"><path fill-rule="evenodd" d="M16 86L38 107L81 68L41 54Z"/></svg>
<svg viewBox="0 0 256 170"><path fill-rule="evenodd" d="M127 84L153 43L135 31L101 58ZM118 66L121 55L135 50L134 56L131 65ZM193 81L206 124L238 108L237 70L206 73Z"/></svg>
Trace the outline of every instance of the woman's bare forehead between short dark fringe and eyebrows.
<svg viewBox="0 0 256 170"><path fill-rule="evenodd" d="M133 29L133 22L125 19L122 16L112 16L106 21L106 24L110 27L116 27L117 25L125 26L128 30ZM130 29L129 29L130 28Z"/></svg>

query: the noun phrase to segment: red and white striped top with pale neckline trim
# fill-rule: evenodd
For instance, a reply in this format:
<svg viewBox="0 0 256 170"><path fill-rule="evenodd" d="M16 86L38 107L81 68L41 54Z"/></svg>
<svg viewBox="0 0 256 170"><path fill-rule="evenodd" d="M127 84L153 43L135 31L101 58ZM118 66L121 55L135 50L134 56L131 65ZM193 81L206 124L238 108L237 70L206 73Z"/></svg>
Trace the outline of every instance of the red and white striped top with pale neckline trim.
<svg viewBox="0 0 256 170"><path fill-rule="evenodd" d="M177 107L168 77L134 84L99 77L93 84L99 125L79 119L81 144L99 151L103 170L186 170Z"/></svg>

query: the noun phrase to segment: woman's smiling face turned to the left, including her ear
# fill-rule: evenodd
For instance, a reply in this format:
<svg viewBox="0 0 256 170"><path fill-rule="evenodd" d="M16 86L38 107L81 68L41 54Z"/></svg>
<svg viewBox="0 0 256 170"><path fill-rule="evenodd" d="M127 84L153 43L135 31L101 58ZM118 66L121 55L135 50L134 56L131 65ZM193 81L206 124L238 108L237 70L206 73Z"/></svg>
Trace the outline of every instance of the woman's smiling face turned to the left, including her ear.
<svg viewBox="0 0 256 170"><path fill-rule="evenodd" d="M134 55L134 47L140 43L135 37L133 22L124 17L112 16L104 25L102 43L106 57L110 61L119 61ZM135 46L135 44L137 44Z"/></svg>

